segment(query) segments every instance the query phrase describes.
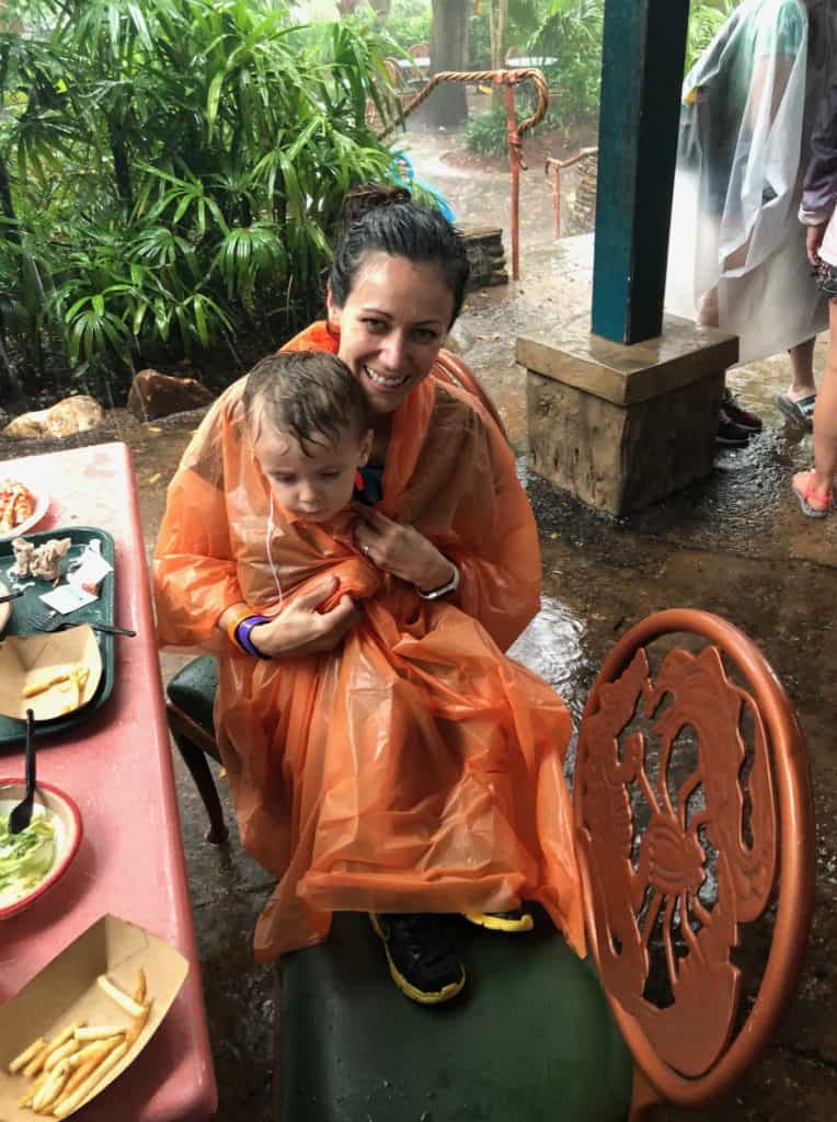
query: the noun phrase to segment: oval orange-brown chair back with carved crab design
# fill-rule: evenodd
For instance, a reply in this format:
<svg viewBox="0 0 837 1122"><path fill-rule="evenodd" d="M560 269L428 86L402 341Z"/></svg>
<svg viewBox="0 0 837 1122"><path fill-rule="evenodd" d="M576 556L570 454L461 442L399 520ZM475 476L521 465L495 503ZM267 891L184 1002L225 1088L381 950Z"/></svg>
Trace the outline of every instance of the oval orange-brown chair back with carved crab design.
<svg viewBox="0 0 837 1122"><path fill-rule="evenodd" d="M573 799L590 949L637 1065L632 1116L712 1098L794 994L813 905L804 743L757 647L695 609L633 627L590 692ZM771 907L747 1012L739 948Z"/></svg>

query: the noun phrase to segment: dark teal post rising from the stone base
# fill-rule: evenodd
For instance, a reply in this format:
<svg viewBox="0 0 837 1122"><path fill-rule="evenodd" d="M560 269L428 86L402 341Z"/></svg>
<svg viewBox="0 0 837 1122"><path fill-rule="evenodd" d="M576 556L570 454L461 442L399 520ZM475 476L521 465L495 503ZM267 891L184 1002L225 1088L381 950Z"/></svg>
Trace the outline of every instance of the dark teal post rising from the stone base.
<svg viewBox="0 0 837 1122"><path fill-rule="evenodd" d="M662 331L689 0L607 0L592 330Z"/></svg>

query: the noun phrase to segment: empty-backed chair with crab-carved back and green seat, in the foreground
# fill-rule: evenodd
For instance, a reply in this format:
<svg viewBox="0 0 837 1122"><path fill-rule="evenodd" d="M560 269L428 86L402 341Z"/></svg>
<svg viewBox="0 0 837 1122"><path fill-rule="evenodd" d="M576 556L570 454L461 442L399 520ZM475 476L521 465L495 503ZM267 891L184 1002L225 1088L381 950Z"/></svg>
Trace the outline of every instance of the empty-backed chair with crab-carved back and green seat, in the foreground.
<svg viewBox="0 0 837 1122"><path fill-rule="evenodd" d="M315 1105L319 1122L342 1122L360 1104L380 1122L429 1104L448 1118L470 1102L486 1122L633 1122L663 1100L729 1091L795 991L813 902L804 746L755 645L691 609L632 628L590 693L573 794L591 957L633 1092L600 992L559 937L527 950L471 935L473 994L427 1015L346 913L328 942L284 960L282 984L276 971L277 1120L303 1122ZM733 951L771 905L766 965L745 973Z"/></svg>

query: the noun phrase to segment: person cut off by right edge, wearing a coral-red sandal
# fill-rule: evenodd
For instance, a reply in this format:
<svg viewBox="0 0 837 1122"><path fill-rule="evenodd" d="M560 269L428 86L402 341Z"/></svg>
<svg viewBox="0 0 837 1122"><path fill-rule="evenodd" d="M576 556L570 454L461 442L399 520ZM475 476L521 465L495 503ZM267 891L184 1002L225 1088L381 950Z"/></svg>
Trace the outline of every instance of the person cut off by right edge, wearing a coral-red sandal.
<svg viewBox="0 0 837 1122"><path fill-rule="evenodd" d="M800 220L808 227L808 256L830 298L829 346L822 387L813 413L813 469L793 477L802 513L825 518L834 502L837 472L837 85L828 90L826 112L811 141Z"/></svg>

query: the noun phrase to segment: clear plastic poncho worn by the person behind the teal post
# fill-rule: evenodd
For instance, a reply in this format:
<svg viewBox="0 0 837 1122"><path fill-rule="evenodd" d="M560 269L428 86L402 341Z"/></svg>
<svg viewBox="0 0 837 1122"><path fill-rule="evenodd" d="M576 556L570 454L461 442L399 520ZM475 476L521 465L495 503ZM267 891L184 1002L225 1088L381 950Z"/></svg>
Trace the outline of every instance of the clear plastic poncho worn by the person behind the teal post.
<svg viewBox="0 0 837 1122"><path fill-rule="evenodd" d="M828 322L797 212L830 58L830 0L745 0L683 83L666 310L753 361Z"/></svg>

